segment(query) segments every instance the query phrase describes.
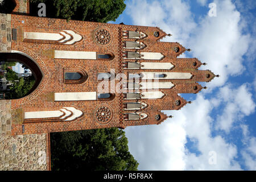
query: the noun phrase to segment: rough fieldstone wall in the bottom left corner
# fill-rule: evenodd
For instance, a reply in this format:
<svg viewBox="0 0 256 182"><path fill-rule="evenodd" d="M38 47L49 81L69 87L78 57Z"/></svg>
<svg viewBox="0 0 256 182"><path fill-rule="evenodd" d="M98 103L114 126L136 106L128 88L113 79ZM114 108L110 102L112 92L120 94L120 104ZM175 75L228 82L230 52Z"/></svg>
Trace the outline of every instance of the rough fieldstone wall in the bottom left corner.
<svg viewBox="0 0 256 182"><path fill-rule="evenodd" d="M0 170L47 170L47 134L0 138Z"/></svg>

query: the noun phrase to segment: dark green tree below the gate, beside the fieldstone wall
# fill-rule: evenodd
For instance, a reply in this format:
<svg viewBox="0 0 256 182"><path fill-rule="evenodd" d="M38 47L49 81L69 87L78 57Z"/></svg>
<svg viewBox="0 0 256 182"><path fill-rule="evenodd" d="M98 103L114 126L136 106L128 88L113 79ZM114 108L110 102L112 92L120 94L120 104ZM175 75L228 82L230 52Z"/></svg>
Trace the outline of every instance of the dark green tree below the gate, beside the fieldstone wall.
<svg viewBox="0 0 256 182"><path fill-rule="evenodd" d="M51 169L137 170L127 143L125 132L117 128L51 133Z"/></svg>

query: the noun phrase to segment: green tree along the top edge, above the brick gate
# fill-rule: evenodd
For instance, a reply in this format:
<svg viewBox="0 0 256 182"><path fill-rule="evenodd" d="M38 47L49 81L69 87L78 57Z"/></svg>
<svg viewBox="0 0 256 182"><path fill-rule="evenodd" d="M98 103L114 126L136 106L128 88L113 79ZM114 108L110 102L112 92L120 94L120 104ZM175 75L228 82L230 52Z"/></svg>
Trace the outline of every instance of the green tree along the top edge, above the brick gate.
<svg viewBox="0 0 256 182"><path fill-rule="evenodd" d="M38 3L46 3L46 16L106 23L125 10L125 0L31 0L31 13L38 16Z"/></svg>

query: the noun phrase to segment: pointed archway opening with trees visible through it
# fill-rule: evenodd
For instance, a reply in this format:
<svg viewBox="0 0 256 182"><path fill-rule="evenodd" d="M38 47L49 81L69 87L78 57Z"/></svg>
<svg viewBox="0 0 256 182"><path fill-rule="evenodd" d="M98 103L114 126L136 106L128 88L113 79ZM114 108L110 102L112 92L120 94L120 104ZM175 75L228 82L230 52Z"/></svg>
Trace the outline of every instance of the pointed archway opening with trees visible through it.
<svg viewBox="0 0 256 182"><path fill-rule="evenodd" d="M0 99L28 96L42 81L43 73L38 65L23 53L0 53L0 63ZM24 72L16 71L15 67Z"/></svg>

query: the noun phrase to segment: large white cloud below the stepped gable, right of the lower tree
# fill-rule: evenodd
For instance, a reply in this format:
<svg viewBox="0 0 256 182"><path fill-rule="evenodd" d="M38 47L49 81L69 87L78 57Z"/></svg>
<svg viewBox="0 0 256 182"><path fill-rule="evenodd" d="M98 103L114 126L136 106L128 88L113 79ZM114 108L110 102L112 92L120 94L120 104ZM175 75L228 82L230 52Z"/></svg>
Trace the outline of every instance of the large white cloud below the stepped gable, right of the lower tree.
<svg viewBox="0 0 256 182"><path fill-rule="evenodd" d="M212 137L212 102L199 94L181 111L166 111L175 117L158 126L127 127L129 149L139 160L141 170L228 170L241 169L236 162L237 147L220 135ZM186 137L196 141L200 155L185 148ZM217 163L209 164L209 152L217 154Z"/></svg>

